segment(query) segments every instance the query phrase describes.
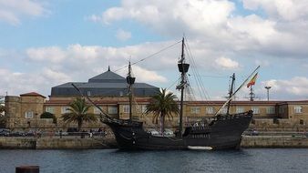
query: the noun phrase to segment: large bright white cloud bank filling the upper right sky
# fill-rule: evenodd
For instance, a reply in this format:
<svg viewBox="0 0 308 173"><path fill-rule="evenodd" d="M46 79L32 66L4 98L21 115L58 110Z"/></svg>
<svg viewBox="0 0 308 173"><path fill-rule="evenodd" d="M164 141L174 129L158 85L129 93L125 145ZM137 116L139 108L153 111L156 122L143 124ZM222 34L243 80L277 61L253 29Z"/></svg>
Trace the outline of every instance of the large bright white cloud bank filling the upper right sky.
<svg viewBox="0 0 308 173"><path fill-rule="evenodd" d="M234 15L236 5L227 0L122 0L121 5L90 18L108 25L132 19L163 36L179 37L185 33L200 44L209 44L213 51L224 51L224 55L244 52L308 56L308 49L304 47L308 45L306 1L242 1L246 9L261 8L266 15L253 14L253 11L249 15ZM289 11L292 16L288 15Z"/></svg>

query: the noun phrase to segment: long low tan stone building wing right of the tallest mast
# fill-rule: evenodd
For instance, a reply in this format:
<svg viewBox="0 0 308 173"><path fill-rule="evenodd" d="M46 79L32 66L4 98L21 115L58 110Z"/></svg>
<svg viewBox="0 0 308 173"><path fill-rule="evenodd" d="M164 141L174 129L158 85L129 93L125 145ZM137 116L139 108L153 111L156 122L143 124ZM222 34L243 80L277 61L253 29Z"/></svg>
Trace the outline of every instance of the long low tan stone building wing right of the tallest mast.
<svg viewBox="0 0 308 173"><path fill-rule="evenodd" d="M214 116L224 101L199 101L185 105L187 121ZM255 127L304 127L308 123L308 100L303 101L232 101L230 113L253 111ZM221 110L226 113L227 107Z"/></svg>

